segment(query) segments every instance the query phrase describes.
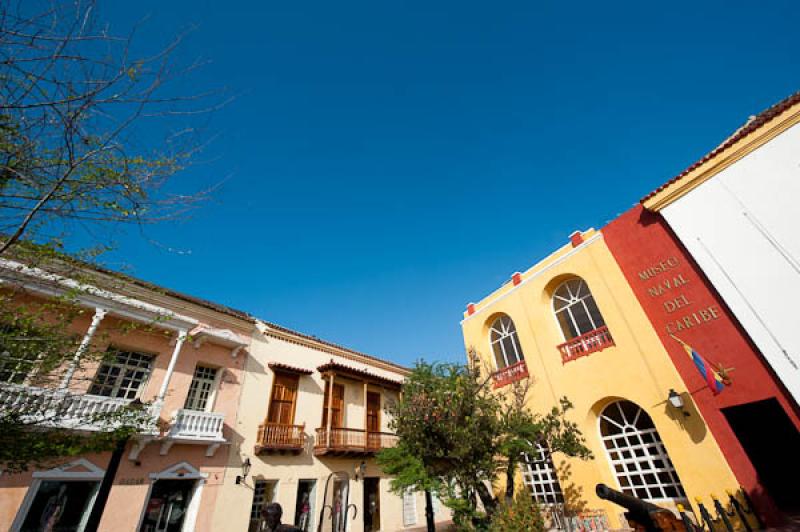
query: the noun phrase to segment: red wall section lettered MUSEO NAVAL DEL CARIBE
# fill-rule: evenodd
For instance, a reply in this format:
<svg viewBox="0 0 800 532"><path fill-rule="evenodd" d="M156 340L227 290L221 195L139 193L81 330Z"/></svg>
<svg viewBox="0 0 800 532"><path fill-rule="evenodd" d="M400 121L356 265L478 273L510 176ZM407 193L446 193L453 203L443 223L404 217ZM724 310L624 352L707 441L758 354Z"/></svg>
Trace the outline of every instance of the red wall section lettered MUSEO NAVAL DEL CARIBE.
<svg viewBox="0 0 800 532"><path fill-rule="evenodd" d="M800 430L800 416L792 400L661 215L637 205L604 227L602 233L731 470L762 519L775 523L779 512L721 409L775 398ZM710 363L735 368L732 384L714 396L670 334L691 345Z"/></svg>

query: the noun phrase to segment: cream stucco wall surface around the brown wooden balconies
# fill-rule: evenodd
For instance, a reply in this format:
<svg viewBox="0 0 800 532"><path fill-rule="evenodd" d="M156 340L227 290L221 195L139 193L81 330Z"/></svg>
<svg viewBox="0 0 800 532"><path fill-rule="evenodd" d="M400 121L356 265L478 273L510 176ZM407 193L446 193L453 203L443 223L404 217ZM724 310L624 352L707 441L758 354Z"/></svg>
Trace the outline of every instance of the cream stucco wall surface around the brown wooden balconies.
<svg viewBox="0 0 800 532"><path fill-rule="evenodd" d="M366 476L380 478L381 530L391 531L404 528L402 499L390 493L389 479L380 471L373 458L316 457L313 454L315 430L321 426L322 422L325 389L323 377L316 368L331 360L352 368L367 370L374 375L393 380L402 379L400 373L376 365L354 361L307 345L256 333L245 368L246 374L236 425L239 439L230 450L228 470L225 475L226 481L220 490L218 506L214 514L213 530L247 530L253 502L254 482L257 480L277 481L275 502L278 502L283 508L285 523L294 523L298 482L314 480L316 482L316 500L313 522L316 523L323 504L325 481L332 472L344 471L351 477L350 503L355 504L358 511L357 518L349 522L348 530L359 532L363 530L363 482L355 481L352 477L362 460L366 464ZM303 375L299 378L294 423L305 424L305 432L309 436L309 441L306 449L298 455L256 455L254 453L258 426L267 415L275 375L268 367L270 362L312 371L310 375ZM335 382L343 384L345 387L343 426L363 429L365 427L363 382L340 376L335 378ZM370 384L369 389L380 391L383 407L387 401L397 397L397 393L393 389L381 388L375 384ZM388 415L382 411L381 426L385 431L388 431L388 422ZM252 463L250 476L243 484L237 485L234 478L241 474L241 464L245 458L249 458ZM328 500L328 504L330 502ZM416 506L417 519L413 526L420 526L424 524L424 497L421 494L417 495ZM447 518L447 515L440 515L440 519Z"/></svg>

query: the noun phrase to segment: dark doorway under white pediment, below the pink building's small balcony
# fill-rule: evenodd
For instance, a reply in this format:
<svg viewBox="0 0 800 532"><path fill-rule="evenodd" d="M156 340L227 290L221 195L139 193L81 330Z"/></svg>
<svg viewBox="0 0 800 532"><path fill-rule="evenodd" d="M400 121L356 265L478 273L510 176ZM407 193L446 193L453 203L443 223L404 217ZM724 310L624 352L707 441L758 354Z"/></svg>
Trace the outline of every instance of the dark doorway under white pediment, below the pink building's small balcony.
<svg viewBox="0 0 800 532"><path fill-rule="evenodd" d="M180 532L194 484L194 480L156 480L139 531Z"/></svg>

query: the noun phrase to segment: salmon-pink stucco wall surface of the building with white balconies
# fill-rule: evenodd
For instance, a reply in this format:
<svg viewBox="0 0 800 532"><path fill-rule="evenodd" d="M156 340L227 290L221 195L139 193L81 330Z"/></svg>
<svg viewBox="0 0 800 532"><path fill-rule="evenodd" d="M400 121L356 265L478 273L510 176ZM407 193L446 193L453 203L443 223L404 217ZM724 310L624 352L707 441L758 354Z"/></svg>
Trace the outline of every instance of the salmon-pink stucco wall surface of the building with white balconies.
<svg viewBox="0 0 800 532"><path fill-rule="evenodd" d="M29 304L37 302L35 298L23 298L19 301ZM88 328L92 314L93 310L87 310L84 315L76 319L71 324L71 332L79 337L82 336ZM162 385L174 350L171 338L172 334L164 331L147 331L141 327L130 330L126 328L125 321L109 315L100 323L94 337L93 349L102 352L108 346L114 346L154 355L153 370L141 394L143 401L152 401ZM175 410L183 408L194 368L198 363L217 367L222 374L218 379L213 408L210 410L225 414L223 435L228 441L235 441L238 438L235 433L236 408L245 358L242 354L233 358L230 348L208 341L196 348L192 342L187 340L181 349L167 389L162 408L162 419L168 422ZM83 393L88 390L97 366L97 362L83 363L73 378L72 391ZM198 532L211 530L211 516L215 508L218 486L223 482L228 447L222 446L214 456L207 457L207 445L176 443L166 454L162 455L161 443L153 442L149 443L139 454L138 461L128 458L131 447L132 445L128 444L120 463L115 483L109 494L106 511L100 523L100 530L104 532L135 530L142 518L150 488L154 482L151 475L164 472L182 462L186 462L205 477L202 480L202 490L197 492L200 493L198 501L200 504L194 529ZM39 471L46 471L73 462L78 458L86 459L94 466L105 470L110 453L54 459L52 463L40 468ZM20 505L30 489L35 471L0 477L0 529L10 529L19 513Z"/></svg>

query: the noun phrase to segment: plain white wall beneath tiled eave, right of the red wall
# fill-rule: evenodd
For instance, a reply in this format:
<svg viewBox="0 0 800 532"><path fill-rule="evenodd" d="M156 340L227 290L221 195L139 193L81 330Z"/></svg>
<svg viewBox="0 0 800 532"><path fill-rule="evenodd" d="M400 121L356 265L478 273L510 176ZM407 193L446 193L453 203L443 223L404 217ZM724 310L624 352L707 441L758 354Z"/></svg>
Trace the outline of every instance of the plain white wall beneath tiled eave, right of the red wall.
<svg viewBox="0 0 800 532"><path fill-rule="evenodd" d="M800 125L662 214L800 402Z"/></svg>

